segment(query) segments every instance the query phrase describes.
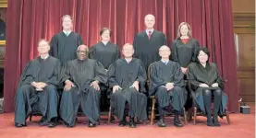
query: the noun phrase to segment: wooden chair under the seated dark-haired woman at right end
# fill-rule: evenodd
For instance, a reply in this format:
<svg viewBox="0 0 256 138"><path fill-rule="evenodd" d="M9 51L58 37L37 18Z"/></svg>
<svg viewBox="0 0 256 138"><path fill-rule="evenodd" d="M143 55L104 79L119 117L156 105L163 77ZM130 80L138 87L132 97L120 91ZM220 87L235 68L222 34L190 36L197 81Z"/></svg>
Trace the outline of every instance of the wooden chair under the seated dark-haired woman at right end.
<svg viewBox="0 0 256 138"><path fill-rule="evenodd" d="M225 82L227 82L227 80L225 80ZM189 81L189 91L191 92L191 83ZM212 96L212 102L213 102L213 96ZM193 115L191 115L191 113L193 112ZM204 116L201 112L201 110L199 110L199 108L197 107L195 100L193 99L193 106L192 106L192 110L189 110L189 121L191 121L191 117L193 116L193 124L196 125L196 120L197 120L197 116ZM226 121L228 124L230 124L230 118L229 118L229 112L227 110L227 108L225 108L225 113L224 116L226 116Z"/></svg>

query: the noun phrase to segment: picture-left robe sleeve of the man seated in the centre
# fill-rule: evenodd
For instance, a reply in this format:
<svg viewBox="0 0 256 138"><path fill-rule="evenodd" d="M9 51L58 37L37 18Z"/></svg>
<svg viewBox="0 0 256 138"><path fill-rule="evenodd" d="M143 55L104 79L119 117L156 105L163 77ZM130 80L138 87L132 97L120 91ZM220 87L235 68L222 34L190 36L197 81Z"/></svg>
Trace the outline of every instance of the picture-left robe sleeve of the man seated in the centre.
<svg viewBox="0 0 256 138"><path fill-rule="evenodd" d="M110 88L113 86L119 86L119 84L116 81L116 63L113 63L109 66L109 69L107 71L108 76L108 85Z"/></svg>

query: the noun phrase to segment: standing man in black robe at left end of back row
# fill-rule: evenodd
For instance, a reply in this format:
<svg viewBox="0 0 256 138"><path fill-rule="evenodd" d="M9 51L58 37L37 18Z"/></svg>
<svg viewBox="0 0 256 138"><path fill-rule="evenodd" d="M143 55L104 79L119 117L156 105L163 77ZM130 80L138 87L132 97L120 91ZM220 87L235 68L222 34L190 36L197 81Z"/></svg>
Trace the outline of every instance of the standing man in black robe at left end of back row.
<svg viewBox="0 0 256 138"><path fill-rule="evenodd" d="M72 31L73 20L69 15L62 17L63 30L55 34L50 42L50 55L60 60L64 65L68 61L77 58L77 49L82 44L82 39L79 33Z"/></svg>

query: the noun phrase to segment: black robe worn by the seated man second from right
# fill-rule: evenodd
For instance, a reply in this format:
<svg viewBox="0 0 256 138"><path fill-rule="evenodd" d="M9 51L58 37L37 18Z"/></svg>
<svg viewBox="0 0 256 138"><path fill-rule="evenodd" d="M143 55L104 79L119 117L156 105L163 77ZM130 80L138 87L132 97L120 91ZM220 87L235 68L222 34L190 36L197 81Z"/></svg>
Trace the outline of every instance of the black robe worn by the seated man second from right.
<svg viewBox="0 0 256 138"><path fill-rule="evenodd" d="M167 91L164 87L167 83L174 83L174 88ZM162 61L152 63L150 67L150 95L154 95L159 106L165 109L172 106L180 111L187 100L187 91L184 88L183 74L176 62Z"/></svg>

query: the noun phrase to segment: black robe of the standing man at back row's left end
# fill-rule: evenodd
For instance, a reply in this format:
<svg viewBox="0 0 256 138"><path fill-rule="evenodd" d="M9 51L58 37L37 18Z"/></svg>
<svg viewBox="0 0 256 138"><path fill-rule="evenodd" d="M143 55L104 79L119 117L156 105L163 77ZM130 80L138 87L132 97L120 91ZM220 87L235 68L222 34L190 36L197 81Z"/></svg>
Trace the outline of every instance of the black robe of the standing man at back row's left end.
<svg viewBox="0 0 256 138"><path fill-rule="evenodd" d="M61 31L55 34L50 42L50 55L59 59L60 63L64 65L64 63L77 58L77 49L82 43L79 33L71 31L67 36Z"/></svg>

